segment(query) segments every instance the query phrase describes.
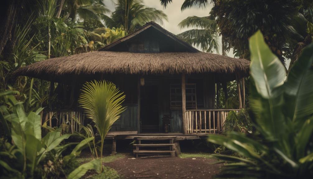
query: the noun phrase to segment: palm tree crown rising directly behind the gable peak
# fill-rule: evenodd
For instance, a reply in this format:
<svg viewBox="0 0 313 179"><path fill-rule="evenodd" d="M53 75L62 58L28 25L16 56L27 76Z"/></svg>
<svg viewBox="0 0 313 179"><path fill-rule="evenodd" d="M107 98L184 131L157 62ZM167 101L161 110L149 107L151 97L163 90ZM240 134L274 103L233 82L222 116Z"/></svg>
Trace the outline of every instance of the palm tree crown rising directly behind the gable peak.
<svg viewBox="0 0 313 179"><path fill-rule="evenodd" d="M133 32L145 23L155 21L163 24L167 15L156 8L148 8L143 0L116 0L115 11L111 17L102 16L108 28L124 26L127 33Z"/></svg>

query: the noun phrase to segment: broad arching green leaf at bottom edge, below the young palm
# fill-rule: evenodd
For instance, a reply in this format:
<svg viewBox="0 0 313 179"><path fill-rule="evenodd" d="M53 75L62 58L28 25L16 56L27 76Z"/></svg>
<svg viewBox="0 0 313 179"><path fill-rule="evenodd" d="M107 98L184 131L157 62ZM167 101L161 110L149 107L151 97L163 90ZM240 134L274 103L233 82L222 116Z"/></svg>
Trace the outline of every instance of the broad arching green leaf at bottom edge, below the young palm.
<svg viewBox="0 0 313 179"><path fill-rule="evenodd" d="M79 179L80 177L82 177L83 175L85 175L85 173L88 170L94 169L97 172L100 171L101 169L101 163L99 159L94 159L88 163L85 163L81 166L79 166L78 168L76 168L74 171L72 171L68 176L67 179Z"/></svg>

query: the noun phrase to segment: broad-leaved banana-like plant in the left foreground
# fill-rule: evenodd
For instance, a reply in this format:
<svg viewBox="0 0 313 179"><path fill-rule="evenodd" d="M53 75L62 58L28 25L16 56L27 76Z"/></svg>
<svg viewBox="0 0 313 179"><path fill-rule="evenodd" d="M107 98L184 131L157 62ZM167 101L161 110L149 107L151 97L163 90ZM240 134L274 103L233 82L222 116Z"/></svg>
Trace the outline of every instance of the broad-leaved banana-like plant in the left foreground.
<svg viewBox="0 0 313 179"><path fill-rule="evenodd" d="M1 103L3 103L0 107L1 123L3 123L4 130L12 138L12 144L5 143L9 149L0 152L0 166L8 172L18 171L16 175L19 178L33 177L35 168L40 165L40 162L47 157L49 152L53 151L56 156L60 156L62 151L74 143L60 145L64 139L68 139L71 135L61 135L59 130L54 130L41 137L41 116L39 113L43 108L26 114L23 102L17 101L13 94L16 92L5 91L0 93ZM63 157L64 162L80 155L81 150L92 140L94 137L86 138L78 143L69 155ZM7 157L16 159L17 163L10 166L2 160L8 159ZM22 166L22 168L18 168L18 166Z"/></svg>

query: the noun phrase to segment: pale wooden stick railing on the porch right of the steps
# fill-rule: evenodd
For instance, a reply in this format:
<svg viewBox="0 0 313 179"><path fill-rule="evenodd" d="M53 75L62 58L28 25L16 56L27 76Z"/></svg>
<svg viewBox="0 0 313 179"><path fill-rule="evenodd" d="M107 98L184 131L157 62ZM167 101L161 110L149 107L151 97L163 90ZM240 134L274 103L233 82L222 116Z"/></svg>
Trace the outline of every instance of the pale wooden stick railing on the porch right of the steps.
<svg viewBox="0 0 313 179"><path fill-rule="evenodd" d="M222 130L229 111L232 110L186 110L185 127L187 134L218 133Z"/></svg>

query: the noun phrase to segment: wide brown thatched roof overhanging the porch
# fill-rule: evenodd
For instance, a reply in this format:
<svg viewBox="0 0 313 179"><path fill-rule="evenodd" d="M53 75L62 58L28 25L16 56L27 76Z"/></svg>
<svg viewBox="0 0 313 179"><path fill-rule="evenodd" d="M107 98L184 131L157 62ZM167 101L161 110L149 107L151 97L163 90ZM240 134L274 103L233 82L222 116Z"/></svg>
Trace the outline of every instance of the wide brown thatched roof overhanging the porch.
<svg viewBox="0 0 313 179"><path fill-rule="evenodd" d="M96 51L47 59L16 70L13 75L52 80L92 74L201 74L247 76L249 61L208 53L130 53Z"/></svg>

